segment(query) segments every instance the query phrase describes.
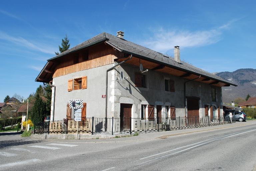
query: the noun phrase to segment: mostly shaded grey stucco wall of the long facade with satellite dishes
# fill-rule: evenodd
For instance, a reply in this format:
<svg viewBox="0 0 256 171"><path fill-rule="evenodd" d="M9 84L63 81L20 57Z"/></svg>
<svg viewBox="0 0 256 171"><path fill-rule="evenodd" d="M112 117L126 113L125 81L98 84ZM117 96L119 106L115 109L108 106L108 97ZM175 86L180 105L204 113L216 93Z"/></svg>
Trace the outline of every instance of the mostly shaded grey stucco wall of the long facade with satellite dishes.
<svg viewBox="0 0 256 171"><path fill-rule="evenodd" d="M131 103L132 117L141 116L141 104L162 105L162 115L165 115L165 105L172 105L176 107L176 117L185 115L184 105L184 82L186 79L149 70L143 73L146 75L146 88L135 87L135 72L139 72L139 67L123 64L115 71L115 77L119 77L119 73L123 71L127 80L115 82L115 103L112 107L112 114L115 117L120 116L120 103ZM175 82L175 92L164 90L164 79L171 79ZM216 88L216 102L211 101L211 87ZM211 86L196 81L188 82L186 84L186 96L199 97L199 115L205 116L205 105L215 105L216 108L220 106L222 114L222 97L221 87ZM155 108L156 116L156 108Z"/></svg>

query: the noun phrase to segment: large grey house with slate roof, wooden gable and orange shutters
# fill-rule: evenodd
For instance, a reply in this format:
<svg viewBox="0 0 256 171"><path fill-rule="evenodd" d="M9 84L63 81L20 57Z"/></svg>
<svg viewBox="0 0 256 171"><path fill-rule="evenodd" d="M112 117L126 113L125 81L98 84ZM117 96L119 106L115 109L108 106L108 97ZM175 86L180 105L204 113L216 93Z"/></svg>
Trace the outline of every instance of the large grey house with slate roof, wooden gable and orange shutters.
<svg viewBox="0 0 256 171"><path fill-rule="evenodd" d="M74 118L72 99L83 100L82 117L221 116L222 87L237 86L181 61L179 46L172 58L125 40L121 31L47 60L35 81L53 86L51 120Z"/></svg>

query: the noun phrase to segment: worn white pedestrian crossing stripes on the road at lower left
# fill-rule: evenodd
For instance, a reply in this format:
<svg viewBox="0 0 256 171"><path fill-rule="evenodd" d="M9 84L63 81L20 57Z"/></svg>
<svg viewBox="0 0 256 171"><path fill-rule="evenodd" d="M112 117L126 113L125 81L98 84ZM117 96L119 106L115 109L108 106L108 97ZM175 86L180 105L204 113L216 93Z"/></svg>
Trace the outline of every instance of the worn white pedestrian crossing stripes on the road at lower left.
<svg viewBox="0 0 256 171"><path fill-rule="evenodd" d="M32 162L35 162L35 163L41 162L42 160L40 160L40 159L29 159L29 160L20 161L20 158L24 158L23 156L27 156L28 153L37 153L39 151L39 149L41 149L41 151L39 151L39 152L42 152L43 149L58 150L58 149L62 149L62 148L69 148L69 147L75 147L75 146L78 146L78 145L49 143L49 144L43 144L43 145L41 145L41 144L32 145L32 146L30 145L30 146L26 146L26 147L22 147L22 148L7 148L7 149L0 151L0 158L6 157L6 161L9 161L8 158L18 156L18 157L16 157L18 161L11 162L11 163L0 162L0 170L5 169L6 167L11 167L11 166L25 165L25 164L30 164ZM38 150L35 151L34 149L35 150L38 149ZM21 157L19 157L19 156L21 156Z"/></svg>

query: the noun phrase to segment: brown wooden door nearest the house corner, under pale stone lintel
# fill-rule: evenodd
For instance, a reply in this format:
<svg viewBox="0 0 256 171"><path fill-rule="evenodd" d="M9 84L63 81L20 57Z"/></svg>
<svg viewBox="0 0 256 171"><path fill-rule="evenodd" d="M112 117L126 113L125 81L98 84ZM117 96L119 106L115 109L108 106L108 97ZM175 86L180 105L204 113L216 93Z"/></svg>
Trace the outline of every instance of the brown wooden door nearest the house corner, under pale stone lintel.
<svg viewBox="0 0 256 171"><path fill-rule="evenodd" d="M120 104L120 131L130 130L130 117L132 117L132 104Z"/></svg>

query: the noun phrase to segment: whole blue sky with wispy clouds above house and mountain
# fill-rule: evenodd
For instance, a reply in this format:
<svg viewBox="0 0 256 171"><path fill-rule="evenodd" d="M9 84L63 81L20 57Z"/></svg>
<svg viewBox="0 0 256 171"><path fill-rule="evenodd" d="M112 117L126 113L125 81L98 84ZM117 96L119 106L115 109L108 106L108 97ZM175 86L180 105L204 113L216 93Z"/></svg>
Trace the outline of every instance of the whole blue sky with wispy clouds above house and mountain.
<svg viewBox="0 0 256 171"><path fill-rule="evenodd" d="M68 35L71 47L122 30L128 41L208 72L255 67L255 1L2 1L0 102L25 98L35 78Z"/></svg>

